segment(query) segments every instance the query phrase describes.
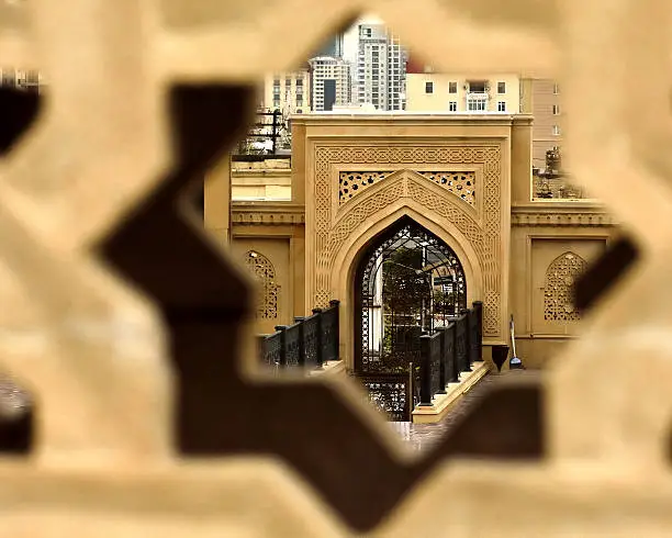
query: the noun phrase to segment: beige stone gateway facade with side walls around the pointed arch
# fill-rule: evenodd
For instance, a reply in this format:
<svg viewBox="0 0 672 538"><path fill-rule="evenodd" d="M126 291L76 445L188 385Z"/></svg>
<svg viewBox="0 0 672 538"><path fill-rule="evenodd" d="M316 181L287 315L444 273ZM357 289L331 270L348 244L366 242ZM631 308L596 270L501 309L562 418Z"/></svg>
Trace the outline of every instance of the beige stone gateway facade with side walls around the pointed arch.
<svg viewBox="0 0 672 538"><path fill-rule="evenodd" d="M540 367L580 333L571 284L604 251L614 222L594 202L533 201L529 115L334 114L292 124L292 201L233 205L239 259L258 248L278 260L279 276L305 276L280 291L277 324L339 300L351 365L358 256L407 215L458 255L468 301L484 303L486 345L509 343L513 314L519 355ZM433 180L457 173L473 178L472 194ZM348 184L355 177L366 181ZM268 253L258 244L264 234L275 242Z"/></svg>

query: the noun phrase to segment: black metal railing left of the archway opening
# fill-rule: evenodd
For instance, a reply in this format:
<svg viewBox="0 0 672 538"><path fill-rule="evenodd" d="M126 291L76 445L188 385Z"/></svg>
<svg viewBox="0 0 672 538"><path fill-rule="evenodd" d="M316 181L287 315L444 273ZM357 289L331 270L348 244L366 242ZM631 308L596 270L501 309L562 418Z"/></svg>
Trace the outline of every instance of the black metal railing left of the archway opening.
<svg viewBox="0 0 672 538"><path fill-rule="evenodd" d="M318 369L338 360L338 305L314 309L307 317L295 317L292 325L278 325L272 335L259 336L259 360L270 369Z"/></svg>

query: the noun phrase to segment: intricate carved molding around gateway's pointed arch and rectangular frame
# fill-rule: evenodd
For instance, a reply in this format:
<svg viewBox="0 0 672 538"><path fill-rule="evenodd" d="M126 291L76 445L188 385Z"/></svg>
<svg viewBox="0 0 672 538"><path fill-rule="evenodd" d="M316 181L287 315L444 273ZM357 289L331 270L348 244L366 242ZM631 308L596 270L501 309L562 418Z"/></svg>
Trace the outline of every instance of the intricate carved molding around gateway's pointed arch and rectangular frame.
<svg viewBox="0 0 672 538"><path fill-rule="evenodd" d="M401 206L413 208L416 214L435 215L446 243L457 247L456 253L473 253L470 265L479 267L482 274L480 299L483 301L483 333L486 337L503 334L501 312L503 304L502 257L502 206L501 175L502 148L500 143L479 145L317 145L312 147L313 162L309 175L314 173L313 197L306 199L306 231L312 235L307 245L306 299L312 305L325 306L335 296L334 276L343 274L339 253L346 240L356 235L356 229L367 221L380 221ZM395 172L372 186L349 203L338 208L338 168L340 165L377 166L384 164ZM482 211L463 203L451 193L410 168L434 165L478 165L482 170ZM350 166L352 167L352 166ZM428 227L428 229L432 229ZM436 232L434 232L436 233ZM471 288L474 289L473 287ZM345 300L339 287L339 300ZM309 304L309 306L311 306ZM344 309L345 310L345 309Z"/></svg>

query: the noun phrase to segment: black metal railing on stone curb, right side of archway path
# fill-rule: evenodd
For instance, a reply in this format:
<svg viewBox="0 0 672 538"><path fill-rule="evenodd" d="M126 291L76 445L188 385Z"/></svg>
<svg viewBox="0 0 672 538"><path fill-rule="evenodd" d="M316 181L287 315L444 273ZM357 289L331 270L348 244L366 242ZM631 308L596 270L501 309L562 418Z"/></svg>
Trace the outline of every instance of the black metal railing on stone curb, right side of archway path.
<svg viewBox="0 0 672 538"><path fill-rule="evenodd" d="M483 360L483 304L474 302L419 340L419 405L432 405L436 394L446 393L448 383L459 382L473 362Z"/></svg>

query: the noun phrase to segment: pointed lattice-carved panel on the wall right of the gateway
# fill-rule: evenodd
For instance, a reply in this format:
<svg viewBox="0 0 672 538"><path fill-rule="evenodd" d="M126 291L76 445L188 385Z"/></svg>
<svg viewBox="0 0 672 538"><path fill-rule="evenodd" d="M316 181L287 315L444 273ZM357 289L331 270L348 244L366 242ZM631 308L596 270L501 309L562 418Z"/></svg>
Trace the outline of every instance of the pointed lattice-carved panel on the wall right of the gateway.
<svg viewBox="0 0 672 538"><path fill-rule="evenodd" d="M544 320L547 322L576 322L581 318L574 307L573 285L587 268L587 261L567 251L551 261L544 279Z"/></svg>

